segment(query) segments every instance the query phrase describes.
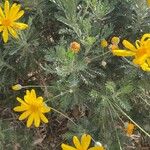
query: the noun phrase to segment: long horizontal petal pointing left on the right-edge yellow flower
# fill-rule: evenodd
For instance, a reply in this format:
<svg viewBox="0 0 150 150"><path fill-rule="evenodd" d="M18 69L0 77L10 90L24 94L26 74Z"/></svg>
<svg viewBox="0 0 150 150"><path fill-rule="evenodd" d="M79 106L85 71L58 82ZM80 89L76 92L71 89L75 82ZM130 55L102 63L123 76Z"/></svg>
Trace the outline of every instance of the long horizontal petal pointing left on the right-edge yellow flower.
<svg viewBox="0 0 150 150"><path fill-rule="evenodd" d="M122 50L122 49L112 50L112 53L115 56L134 56L135 55L135 52L128 51L128 50Z"/></svg>

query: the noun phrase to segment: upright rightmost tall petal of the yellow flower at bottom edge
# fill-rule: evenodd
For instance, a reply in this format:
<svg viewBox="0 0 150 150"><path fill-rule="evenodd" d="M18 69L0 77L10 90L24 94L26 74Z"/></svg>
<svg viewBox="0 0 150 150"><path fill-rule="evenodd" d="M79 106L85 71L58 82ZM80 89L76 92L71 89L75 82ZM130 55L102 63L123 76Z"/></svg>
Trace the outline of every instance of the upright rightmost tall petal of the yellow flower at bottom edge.
<svg viewBox="0 0 150 150"><path fill-rule="evenodd" d="M81 145L84 149L87 149L91 143L91 136L87 134L83 134L81 137Z"/></svg>

